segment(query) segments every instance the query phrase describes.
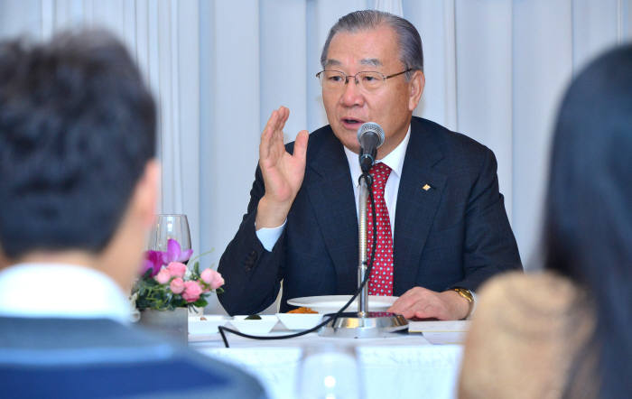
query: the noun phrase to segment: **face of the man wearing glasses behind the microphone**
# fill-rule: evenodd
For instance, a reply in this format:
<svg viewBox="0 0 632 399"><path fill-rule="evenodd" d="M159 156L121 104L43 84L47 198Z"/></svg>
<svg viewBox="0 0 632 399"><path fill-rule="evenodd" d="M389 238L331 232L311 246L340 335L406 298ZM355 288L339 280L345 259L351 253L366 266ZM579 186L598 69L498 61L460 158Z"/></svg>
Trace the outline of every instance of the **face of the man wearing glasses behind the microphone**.
<svg viewBox="0 0 632 399"><path fill-rule="evenodd" d="M373 70L385 76L405 70L399 60L397 36L386 25L359 32L339 32L330 42L325 70L347 75ZM395 149L406 135L413 110L423 91L423 73L415 71L406 81L404 75L386 79L384 85L367 91L354 79L339 89L323 88L322 98L334 134L349 150L358 153L358 128L365 122L381 125L385 143L378 149L381 159Z"/></svg>

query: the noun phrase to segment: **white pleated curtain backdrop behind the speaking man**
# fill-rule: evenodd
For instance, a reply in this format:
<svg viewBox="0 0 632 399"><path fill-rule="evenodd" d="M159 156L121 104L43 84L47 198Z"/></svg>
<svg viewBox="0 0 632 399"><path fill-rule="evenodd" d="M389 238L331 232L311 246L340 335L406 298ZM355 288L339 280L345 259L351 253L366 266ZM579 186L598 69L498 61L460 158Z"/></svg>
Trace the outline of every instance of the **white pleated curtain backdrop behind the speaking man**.
<svg viewBox="0 0 632 399"><path fill-rule="evenodd" d="M496 153L525 264L537 255L549 142L563 89L632 39L632 0L0 0L0 38L105 26L159 98L161 211L183 212L196 253L218 258L246 209L260 131L289 107L287 141L327 123L314 78L330 26L351 11L403 15L422 35L415 115ZM595 99L599 101L599 98ZM207 311L219 311L217 302Z"/></svg>

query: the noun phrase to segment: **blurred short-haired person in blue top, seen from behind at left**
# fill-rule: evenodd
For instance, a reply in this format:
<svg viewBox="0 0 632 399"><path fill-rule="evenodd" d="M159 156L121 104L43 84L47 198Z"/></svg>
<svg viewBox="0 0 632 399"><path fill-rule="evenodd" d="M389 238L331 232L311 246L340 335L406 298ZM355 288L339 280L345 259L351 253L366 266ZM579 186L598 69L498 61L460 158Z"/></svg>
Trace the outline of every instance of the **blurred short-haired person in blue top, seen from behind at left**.
<svg viewBox="0 0 632 399"><path fill-rule="evenodd" d="M153 223L156 110L107 32L0 43L0 395L264 397L128 325Z"/></svg>

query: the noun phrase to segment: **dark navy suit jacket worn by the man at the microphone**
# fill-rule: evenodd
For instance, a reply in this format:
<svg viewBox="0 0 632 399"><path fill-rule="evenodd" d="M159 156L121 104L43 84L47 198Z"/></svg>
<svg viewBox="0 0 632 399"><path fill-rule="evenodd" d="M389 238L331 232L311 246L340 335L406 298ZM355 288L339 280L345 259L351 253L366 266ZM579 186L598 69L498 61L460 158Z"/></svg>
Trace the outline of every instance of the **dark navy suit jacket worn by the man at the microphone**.
<svg viewBox="0 0 632 399"><path fill-rule="evenodd" d="M395 212L394 295L414 286L475 291L491 275L522 267L496 171L494 153L484 145L413 117ZM423 190L426 184L430 190ZM329 125L310 135L302 187L272 252L255 232L264 193L257 168L247 213L219 261L224 309L263 311L282 280L281 311L295 297L353 293L358 217L349 163Z"/></svg>

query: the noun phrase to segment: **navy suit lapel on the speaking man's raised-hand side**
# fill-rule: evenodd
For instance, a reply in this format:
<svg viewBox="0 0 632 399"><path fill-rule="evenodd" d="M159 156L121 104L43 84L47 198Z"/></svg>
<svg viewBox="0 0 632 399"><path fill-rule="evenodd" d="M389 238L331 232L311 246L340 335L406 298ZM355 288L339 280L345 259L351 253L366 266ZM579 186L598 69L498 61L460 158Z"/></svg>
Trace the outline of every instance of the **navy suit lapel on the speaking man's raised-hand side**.
<svg viewBox="0 0 632 399"><path fill-rule="evenodd" d="M358 217L349 162L342 144L331 133L308 168L306 188L338 276L337 293L358 286Z"/></svg>

